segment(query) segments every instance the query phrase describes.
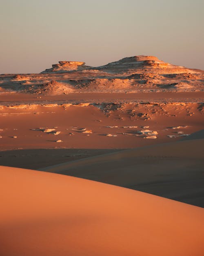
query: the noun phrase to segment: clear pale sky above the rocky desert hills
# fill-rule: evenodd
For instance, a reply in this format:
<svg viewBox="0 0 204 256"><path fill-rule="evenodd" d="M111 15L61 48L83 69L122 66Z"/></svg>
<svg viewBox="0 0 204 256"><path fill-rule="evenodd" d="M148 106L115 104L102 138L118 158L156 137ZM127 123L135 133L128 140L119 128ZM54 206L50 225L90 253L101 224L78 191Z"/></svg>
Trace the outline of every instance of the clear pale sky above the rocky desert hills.
<svg viewBox="0 0 204 256"><path fill-rule="evenodd" d="M204 69L202 0L1 0L0 74L135 55Z"/></svg>

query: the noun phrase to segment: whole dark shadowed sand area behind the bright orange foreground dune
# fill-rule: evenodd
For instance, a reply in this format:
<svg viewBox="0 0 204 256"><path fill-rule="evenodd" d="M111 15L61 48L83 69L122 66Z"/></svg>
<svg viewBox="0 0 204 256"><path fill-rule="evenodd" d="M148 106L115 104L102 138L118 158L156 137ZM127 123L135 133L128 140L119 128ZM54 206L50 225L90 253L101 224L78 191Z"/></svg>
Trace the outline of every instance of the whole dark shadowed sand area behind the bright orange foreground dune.
<svg viewBox="0 0 204 256"><path fill-rule="evenodd" d="M204 130L180 141L113 149L0 152L0 165L55 172L204 207Z"/></svg>

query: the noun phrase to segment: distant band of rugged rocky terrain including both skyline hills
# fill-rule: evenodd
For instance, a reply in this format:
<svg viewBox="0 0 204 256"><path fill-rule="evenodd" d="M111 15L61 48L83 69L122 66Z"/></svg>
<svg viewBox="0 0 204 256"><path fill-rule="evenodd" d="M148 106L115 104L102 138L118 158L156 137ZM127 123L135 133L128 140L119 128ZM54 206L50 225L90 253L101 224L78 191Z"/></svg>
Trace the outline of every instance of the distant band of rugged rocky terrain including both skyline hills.
<svg viewBox="0 0 204 256"><path fill-rule="evenodd" d="M0 75L0 93L60 95L71 92L204 91L204 71L153 56L126 57L104 66L59 61L40 74Z"/></svg>

